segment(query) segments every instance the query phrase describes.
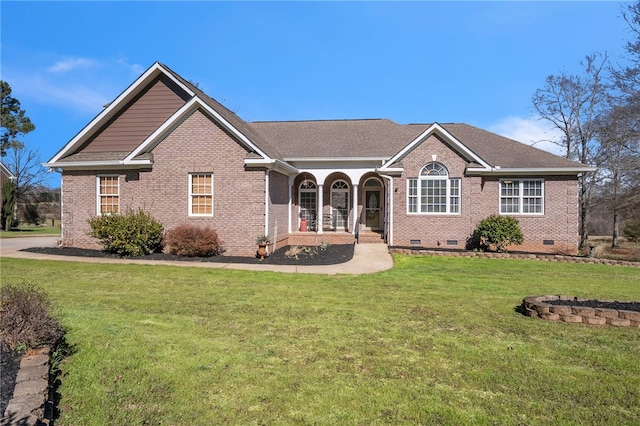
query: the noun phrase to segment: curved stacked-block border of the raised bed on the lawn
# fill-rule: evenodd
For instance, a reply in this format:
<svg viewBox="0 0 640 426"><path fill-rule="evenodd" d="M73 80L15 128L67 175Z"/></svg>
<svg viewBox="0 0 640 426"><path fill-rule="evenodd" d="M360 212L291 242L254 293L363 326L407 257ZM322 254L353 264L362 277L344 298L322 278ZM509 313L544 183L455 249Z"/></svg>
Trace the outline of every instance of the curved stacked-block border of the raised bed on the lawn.
<svg viewBox="0 0 640 426"><path fill-rule="evenodd" d="M563 305L545 303L557 300L566 301L567 303ZM592 299L569 296L531 296L525 297L522 300L522 308L526 315L548 321L640 328L640 312L571 306L571 302L574 300L577 302L586 302ZM614 301L601 300L601 302Z"/></svg>

